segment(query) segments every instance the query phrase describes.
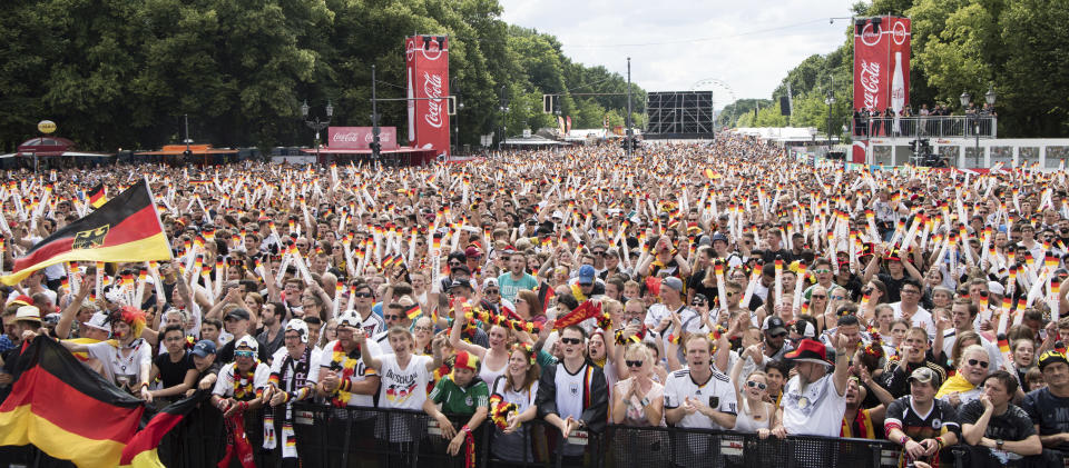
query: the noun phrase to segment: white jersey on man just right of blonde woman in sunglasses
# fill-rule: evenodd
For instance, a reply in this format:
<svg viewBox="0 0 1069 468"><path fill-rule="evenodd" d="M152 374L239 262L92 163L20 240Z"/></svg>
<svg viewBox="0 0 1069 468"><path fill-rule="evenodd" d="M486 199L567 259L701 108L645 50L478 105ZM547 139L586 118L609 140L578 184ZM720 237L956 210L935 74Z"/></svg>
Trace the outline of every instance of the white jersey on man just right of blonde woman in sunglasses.
<svg viewBox="0 0 1069 468"><path fill-rule="evenodd" d="M716 369L712 369L713 375L700 385L694 381L690 376L690 369L680 369L668 375L668 381L665 384L665 409L678 408L686 398L692 398L708 405L713 409L737 415L737 401L735 399L735 389L732 388L732 379ZM678 427L704 428L704 429L732 429L722 427L713 418L702 415L697 411L684 416Z"/></svg>

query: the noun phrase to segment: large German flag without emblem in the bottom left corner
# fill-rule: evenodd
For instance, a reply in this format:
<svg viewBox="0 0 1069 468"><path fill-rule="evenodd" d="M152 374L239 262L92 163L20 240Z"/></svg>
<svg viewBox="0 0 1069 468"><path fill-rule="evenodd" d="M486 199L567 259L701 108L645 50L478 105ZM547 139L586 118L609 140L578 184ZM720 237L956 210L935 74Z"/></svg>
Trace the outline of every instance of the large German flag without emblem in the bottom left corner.
<svg viewBox="0 0 1069 468"><path fill-rule="evenodd" d="M14 362L11 395L0 406L0 446L32 444L79 467L115 467L144 406L39 336Z"/></svg>

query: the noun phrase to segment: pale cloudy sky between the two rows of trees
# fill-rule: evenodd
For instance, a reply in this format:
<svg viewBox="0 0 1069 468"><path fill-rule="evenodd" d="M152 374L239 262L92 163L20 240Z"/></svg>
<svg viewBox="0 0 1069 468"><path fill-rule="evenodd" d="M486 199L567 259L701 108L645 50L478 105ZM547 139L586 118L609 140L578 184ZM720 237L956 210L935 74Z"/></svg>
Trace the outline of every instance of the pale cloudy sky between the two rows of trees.
<svg viewBox="0 0 1069 468"><path fill-rule="evenodd" d="M713 79L736 98L769 98L806 57L845 40L852 0L500 0L503 19L557 37L565 54L647 91ZM625 74L626 76L626 74ZM716 108L730 98L713 89ZM719 96L717 96L719 94Z"/></svg>

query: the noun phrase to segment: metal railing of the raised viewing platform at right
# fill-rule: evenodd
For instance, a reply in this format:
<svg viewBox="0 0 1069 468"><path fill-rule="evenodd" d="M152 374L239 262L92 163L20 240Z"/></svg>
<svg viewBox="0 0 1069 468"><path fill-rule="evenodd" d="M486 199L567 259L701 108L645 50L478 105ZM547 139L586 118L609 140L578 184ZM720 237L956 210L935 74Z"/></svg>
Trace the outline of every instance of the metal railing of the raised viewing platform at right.
<svg viewBox="0 0 1069 468"><path fill-rule="evenodd" d="M852 118L851 135L864 138L996 138L994 116L938 116Z"/></svg>

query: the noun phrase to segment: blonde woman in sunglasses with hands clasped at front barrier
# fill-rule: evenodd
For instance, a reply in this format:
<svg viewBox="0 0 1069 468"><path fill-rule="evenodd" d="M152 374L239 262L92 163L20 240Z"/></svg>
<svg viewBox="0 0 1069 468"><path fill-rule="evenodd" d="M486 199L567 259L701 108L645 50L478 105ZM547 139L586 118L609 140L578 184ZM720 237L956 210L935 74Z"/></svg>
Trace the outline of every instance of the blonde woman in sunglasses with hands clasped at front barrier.
<svg viewBox="0 0 1069 468"><path fill-rule="evenodd" d="M651 377L649 348L632 342L624 350L627 379L612 391L612 422L634 427L665 426L665 387Z"/></svg>

